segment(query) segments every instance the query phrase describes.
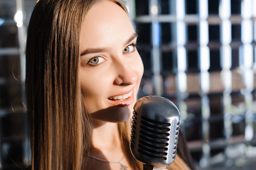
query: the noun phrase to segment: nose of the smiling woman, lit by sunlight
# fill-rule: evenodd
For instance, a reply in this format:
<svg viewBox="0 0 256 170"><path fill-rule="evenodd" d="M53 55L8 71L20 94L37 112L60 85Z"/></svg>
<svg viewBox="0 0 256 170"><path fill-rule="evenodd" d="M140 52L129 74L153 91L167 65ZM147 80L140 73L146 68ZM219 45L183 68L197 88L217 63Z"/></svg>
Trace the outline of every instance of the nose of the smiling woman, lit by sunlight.
<svg viewBox="0 0 256 170"><path fill-rule="evenodd" d="M137 82L138 76L132 67L132 63L116 62L115 65L115 72L117 73L114 81L115 84L130 85Z"/></svg>

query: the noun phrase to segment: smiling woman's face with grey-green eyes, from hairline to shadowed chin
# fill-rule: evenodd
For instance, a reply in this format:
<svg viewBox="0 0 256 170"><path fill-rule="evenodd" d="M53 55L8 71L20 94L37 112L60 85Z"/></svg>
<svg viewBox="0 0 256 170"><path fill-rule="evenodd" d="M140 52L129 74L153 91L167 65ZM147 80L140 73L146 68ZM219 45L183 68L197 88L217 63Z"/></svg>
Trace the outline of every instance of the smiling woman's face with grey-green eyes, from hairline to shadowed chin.
<svg viewBox="0 0 256 170"><path fill-rule="evenodd" d="M88 12L81 28L80 81L92 119L122 122L137 101L143 64L127 13L103 0Z"/></svg>

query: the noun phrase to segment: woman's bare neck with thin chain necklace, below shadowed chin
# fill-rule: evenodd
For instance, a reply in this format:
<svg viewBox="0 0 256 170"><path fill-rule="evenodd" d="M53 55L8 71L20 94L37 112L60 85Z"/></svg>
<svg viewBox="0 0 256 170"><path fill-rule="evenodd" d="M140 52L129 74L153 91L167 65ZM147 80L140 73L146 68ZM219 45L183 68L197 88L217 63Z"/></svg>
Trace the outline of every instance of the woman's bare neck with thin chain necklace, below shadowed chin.
<svg viewBox="0 0 256 170"><path fill-rule="evenodd" d="M86 164L88 170L118 170L120 166L122 170L127 170L129 163L121 147L117 123L93 121L91 144L88 153L90 161ZM124 159L122 159L123 157ZM108 164L106 164L106 161L108 161Z"/></svg>

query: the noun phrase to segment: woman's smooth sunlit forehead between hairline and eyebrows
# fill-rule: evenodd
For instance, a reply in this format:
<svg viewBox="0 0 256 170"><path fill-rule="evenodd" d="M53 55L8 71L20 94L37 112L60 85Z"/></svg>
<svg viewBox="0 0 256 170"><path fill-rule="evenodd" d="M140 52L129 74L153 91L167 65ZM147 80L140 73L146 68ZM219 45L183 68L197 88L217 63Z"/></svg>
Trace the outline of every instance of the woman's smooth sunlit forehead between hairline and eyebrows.
<svg viewBox="0 0 256 170"><path fill-rule="evenodd" d="M105 47L117 39L129 38L134 29L126 11L109 0L94 5L86 15L81 27L81 42L86 48ZM81 46L82 47L82 46Z"/></svg>

